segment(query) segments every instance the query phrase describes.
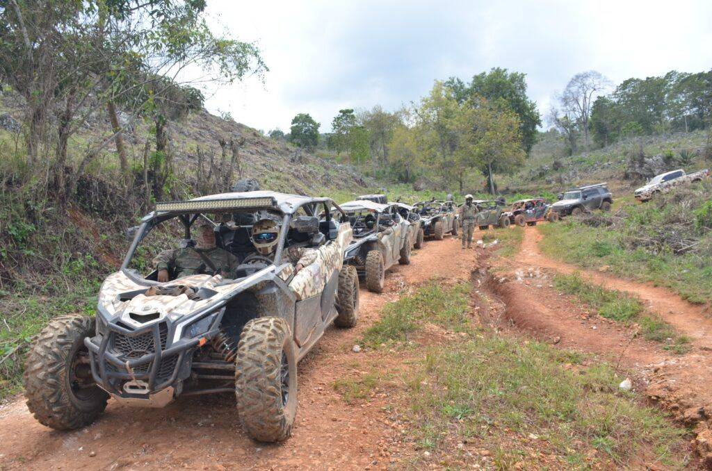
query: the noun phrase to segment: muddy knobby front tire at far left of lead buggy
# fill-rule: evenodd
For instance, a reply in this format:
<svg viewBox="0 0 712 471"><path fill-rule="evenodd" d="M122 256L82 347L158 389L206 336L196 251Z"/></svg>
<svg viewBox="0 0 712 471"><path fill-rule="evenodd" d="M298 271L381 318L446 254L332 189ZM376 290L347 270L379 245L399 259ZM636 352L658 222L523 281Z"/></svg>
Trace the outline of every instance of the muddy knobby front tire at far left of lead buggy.
<svg viewBox="0 0 712 471"><path fill-rule="evenodd" d="M92 423L106 408L108 394L91 376L85 337L95 319L57 317L33 340L25 368L27 408L42 425L72 430ZM93 386L92 386L93 385Z"/></svg>

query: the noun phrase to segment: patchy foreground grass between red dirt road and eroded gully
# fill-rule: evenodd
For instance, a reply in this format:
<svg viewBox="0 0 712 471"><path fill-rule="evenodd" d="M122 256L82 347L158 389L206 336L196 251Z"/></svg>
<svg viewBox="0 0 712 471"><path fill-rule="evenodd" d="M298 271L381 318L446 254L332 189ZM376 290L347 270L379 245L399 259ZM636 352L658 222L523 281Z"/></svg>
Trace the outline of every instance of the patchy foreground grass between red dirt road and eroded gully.
<svg viewBox="0 0 712 471"><path fill-rule="evenodd" d="M684 467L686 431L619 391L622 378L611 366L474 326L470 296L467 284L432 280L389 303L365 334L366 344L379 346L405 341L426 323L466 332L412 350L418 358L403 366L404 389L393 400L412 424L406 433L419 450L412 467ZM378 381L369 373L335 388L353 401Z"/></svg>

